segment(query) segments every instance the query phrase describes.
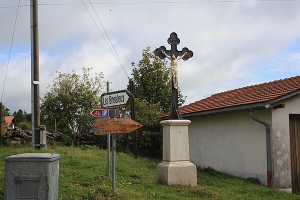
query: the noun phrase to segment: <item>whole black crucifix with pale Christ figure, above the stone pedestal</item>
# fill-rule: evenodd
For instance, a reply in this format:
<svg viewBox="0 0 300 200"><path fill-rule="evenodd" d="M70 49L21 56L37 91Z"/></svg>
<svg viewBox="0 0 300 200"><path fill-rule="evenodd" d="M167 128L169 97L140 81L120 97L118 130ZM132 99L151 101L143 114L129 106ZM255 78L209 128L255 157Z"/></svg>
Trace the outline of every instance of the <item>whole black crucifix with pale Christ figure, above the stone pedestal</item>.
<svg viewBox="0 0 300 200"><path fill-rule="evenodd" d="M180 43L180 39L177 37L175 32L170 34L170 37L167 39L167 42L171 45L170 50L166 50L164 46L160 46L154 50L155 55L159 56L161 59L167 57L171 60L171 66L169 68L169 76L172 78L172 109L168 115L168 119L182 119L181 114L178 111L178 87L177 87L177 78L178 78L178 69L177 61L179 59L187 60L193 56L193 52L184 47L182 50L177 50L177 44ZM179 56L179 57L177 57Z"/></svg>

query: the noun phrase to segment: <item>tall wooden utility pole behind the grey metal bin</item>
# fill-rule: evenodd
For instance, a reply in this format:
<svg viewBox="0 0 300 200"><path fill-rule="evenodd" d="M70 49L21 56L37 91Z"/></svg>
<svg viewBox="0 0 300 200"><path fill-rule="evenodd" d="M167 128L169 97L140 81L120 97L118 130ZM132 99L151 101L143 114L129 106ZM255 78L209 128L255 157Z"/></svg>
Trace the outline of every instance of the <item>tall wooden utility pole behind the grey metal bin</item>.
<svg viewBox="0 0 300 200"><path fill-rule="evenodd" d="M40 148L37 0L30 0L32 148Z"/></svg>

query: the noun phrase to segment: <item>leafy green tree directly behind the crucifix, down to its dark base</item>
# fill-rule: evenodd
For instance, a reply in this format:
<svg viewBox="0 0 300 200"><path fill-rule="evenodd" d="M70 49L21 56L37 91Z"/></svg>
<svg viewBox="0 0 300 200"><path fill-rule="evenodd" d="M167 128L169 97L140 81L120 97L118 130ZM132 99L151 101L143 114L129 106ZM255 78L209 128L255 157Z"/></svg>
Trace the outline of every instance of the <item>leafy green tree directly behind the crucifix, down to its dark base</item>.
<svg viewBox="0 0 300 200"><path fill-rule="evenodd" d="M143 49L142 59L137 66L131 63L134 82L135 118L145 124L142 131L136 134L139 154L146 156L160 156L162 134L159 130L158 116L171 109L171 79L168 77L167 61L160 59L150 50ZM178 89L178 105L182 105L185 97ZM125 109L128 113L129 108ZM124 112L123 112L124 113ZM120 135L121 149L128 149L131 135Z"/></svg>

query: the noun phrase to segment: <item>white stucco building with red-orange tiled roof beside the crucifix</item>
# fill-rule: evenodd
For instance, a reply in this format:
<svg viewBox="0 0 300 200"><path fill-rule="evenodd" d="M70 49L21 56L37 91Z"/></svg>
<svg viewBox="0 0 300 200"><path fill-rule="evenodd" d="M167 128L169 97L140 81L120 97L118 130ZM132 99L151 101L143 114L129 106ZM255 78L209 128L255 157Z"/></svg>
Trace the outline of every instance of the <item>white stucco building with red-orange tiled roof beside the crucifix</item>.
<svg viewBox="0 0 300 200"><path fill-rule="evenodd" d="M195 165L300 191L300 76L216 93L179 111L191 120Z"/></svg>

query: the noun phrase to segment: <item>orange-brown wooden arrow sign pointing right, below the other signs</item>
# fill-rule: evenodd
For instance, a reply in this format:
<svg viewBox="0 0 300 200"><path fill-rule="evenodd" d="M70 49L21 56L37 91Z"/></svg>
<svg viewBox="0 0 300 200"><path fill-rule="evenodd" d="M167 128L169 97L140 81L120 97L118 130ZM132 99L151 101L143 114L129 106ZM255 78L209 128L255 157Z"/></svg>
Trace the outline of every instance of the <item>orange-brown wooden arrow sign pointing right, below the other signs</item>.
<svg viewBox="0 0 300 200"><path fill-rule="evenodd" d="M94 119L94 134L114 134L114 133L130 133L138 128L141 128L143 124L128 118L118 119Z"/></svg>

